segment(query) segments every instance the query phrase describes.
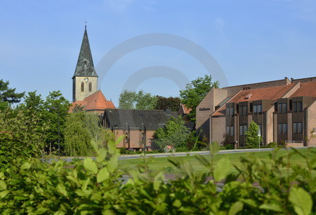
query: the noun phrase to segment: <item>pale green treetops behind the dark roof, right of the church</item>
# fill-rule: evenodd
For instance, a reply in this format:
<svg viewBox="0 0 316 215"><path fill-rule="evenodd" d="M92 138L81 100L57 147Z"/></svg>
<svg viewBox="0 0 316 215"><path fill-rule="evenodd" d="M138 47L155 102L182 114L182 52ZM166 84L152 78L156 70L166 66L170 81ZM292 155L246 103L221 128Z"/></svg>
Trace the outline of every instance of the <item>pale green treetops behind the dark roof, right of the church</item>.
<svg viewBox="0 0 316 215"><path fill-rule="evenodd" d="M119 109L154 109L157 98L149 92L124 90L119 95Z"/></svg>

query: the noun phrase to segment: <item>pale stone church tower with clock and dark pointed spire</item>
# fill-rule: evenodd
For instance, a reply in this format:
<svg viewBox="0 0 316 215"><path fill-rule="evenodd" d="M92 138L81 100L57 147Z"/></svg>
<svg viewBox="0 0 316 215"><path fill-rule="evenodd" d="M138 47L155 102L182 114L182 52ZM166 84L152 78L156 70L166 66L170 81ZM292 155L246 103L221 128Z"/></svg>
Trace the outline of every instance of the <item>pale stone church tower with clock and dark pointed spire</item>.
<svg viewBox="0 0 316 215"><path fill-rule="evenodd" d="M77 67L72 76L72 102L83 101L84 98L97 92L98 74L94 69L86 26L82 39Z"/></svg>

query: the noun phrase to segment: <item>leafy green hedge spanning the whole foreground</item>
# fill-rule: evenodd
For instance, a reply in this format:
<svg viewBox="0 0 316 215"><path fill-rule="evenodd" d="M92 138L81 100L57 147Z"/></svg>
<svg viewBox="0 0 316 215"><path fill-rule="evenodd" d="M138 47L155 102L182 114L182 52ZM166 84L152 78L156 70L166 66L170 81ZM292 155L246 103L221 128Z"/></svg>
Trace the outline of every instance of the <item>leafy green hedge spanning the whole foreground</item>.
<svg viewBox="0 0 316 215"><path fill-rule="evenodd" d="M119 140L117 141L119 142ZM213 164L219 146L211 145L211 159L197 156L209 169L197 173L187 162L170 160L181 176L166 183L163 172L151 172L143 165L129 172L117 169L119 149L109 142L98 149L95 160L86 158L48 164L37 159L11 160L0 173L1 214L311 214L316 213L316 156L306 158L293 150L287 157L270 154L272 165L247 156L240 160L238 174L229 174L230 161ZM291 164L298 153L307 167ZM284 174L287 169L287 174ZM212 180L205 183L211 176ZM238 179L238 180L237 180ZM225 180L222 191L216 181ZM260 188L254 186L258 183ZM313 204L314 202L314 204Z"/></svg>

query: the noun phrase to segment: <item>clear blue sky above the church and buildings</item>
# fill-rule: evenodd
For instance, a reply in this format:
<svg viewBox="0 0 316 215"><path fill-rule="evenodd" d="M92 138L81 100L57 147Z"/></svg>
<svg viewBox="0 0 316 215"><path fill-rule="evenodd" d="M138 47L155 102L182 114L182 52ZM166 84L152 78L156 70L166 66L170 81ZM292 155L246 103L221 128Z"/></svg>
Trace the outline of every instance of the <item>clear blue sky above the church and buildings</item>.
<svg viewBox="0 0 316 215"><path fill-rule="evenodd" d="M133 82L129 77L146 67L157 67L157 74L170 67L189 81L216 72L171 46L136 49L107 72L98 67L114 47L143 34L173 34L204 48L225 74L221 87L316 74L312 0L1 1L0 20L0 78L18 92L37 90L44 97L60 90L72 100L85 20L94 64L104 75L100 89L115 105L126 81ZM138 89L177 96L171 79L151 77Z"/></svg>

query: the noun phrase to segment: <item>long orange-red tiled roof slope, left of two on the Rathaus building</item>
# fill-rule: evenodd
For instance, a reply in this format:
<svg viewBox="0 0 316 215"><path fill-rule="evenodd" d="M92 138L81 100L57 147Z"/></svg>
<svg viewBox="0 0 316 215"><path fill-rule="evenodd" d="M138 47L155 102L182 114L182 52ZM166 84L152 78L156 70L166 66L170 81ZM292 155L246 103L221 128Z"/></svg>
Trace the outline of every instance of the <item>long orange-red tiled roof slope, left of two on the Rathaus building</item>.
<svg viewBox="0 0 316 215"><path fill-rule="evenodd" d="M255 100L276 100L281 98L295 83L273 88L242 90L230 102L246 102Z"/></svg>

